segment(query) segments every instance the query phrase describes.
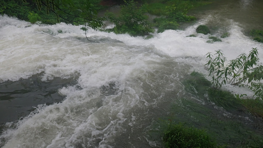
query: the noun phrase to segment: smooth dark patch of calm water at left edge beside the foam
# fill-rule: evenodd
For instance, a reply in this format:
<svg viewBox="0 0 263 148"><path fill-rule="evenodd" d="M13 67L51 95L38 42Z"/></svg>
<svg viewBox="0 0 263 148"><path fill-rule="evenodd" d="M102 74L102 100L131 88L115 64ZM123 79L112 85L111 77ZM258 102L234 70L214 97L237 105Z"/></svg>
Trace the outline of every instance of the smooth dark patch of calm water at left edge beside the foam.
<svg viewBox="0 0 263 148"><path fill-rule="evenodd" d="M18 81L0 83L0 124L27 116L39 104L50 105L63 100L58 89L73 85L75 80L55 77L42 81L41 74Z"/></svg>

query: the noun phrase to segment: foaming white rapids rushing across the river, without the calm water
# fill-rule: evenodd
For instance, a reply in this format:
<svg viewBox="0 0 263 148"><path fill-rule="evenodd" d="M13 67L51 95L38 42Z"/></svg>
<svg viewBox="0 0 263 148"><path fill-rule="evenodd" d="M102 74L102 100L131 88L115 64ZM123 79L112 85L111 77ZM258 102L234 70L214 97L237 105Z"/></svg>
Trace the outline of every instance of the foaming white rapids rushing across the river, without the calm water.
<svg viewBox="0 0 263 148"><path fill-rule="evenodd" d="M149 135L151 125L185 94L181 80L187 74L197 71L208 76L206 53L221 49L231 60L257 47L263 59L263 44L246 37L232 20L225 28L229 37L208 43L211 35L195 32L206 21L150 39L88 30L87 37L93 40L88 41L81 26L33 25L0 16L0 82L34 74L41 81L76 80L75 85L57 90L62 102L39 105L27 117L6 123L0 146L161 147L161 141Z"/></svg>

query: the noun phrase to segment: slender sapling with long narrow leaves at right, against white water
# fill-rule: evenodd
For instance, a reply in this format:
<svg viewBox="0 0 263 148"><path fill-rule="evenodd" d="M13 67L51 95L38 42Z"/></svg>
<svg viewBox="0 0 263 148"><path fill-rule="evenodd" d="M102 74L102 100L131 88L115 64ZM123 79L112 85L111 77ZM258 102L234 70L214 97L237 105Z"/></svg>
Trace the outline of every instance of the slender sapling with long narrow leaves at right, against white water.
<svg viewBox="0 0 263 148"><path fill-rule="evenodd" d="M208 61L205 64L208 66L209 75L212 76L214 88L220 88L226 82L236 86L247 86L255 93L256 98L263 98L263 66L259 64L257 48L252 48L249 55L239 55L227 65L221 50L217 50L214 55L215 58L211 53L207 53Z"/></svg>

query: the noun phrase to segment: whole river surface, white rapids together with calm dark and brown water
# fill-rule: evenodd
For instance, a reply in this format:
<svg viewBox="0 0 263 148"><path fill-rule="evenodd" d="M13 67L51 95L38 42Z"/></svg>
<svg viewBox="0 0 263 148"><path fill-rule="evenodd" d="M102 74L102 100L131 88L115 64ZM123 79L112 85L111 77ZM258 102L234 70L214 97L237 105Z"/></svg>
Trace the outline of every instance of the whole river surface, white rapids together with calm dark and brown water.
<svg viewBox="0 0 263 148"><path fill-rule="evenodd" d="M0 16L0 147L162 148L168 119L233 147L261 137L253 116L206 103L184 81L193 71L207 76L205 54L218 49L231 60L257 47L263 59L263 44L246 36L263 29L263 1L217 0L190 13L198 20L184 30L150 39L88 30L92 41L81 26ZM195 32L202 24L230 36L208 43L211 35Z"/></svg>

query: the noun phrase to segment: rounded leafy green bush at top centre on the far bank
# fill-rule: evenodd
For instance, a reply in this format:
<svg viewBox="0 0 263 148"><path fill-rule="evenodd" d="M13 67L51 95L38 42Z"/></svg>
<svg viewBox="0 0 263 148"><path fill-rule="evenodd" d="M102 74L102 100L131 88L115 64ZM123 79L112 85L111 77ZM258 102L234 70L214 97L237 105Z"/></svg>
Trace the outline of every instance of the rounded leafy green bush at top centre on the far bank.
<svg viewBox="0 0 263 148"><path fill-rule="evenodd" d="M113 29L108 29L115 34L129 34L131 36L146 36L154 32L145 15L146 5L140 7L138 3L130 0L121 5L120 16L115 17L113 13L108 13L108 18L115 24Z"/></svg>

